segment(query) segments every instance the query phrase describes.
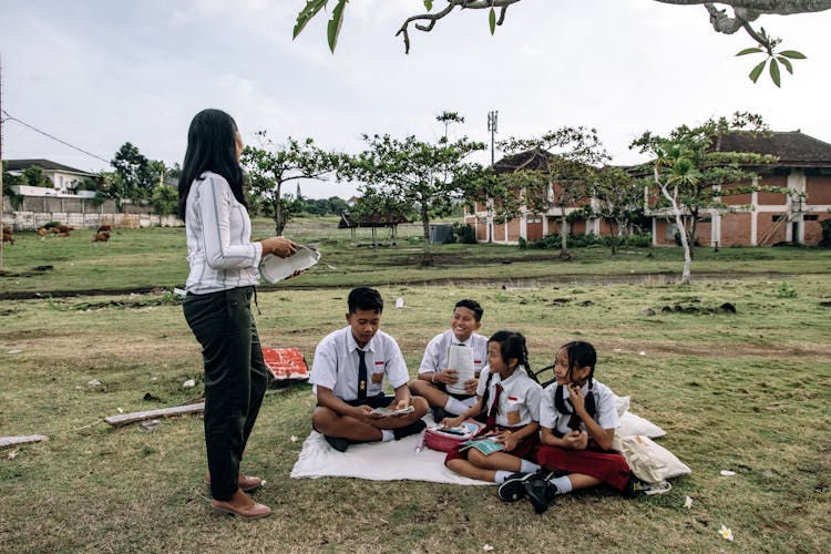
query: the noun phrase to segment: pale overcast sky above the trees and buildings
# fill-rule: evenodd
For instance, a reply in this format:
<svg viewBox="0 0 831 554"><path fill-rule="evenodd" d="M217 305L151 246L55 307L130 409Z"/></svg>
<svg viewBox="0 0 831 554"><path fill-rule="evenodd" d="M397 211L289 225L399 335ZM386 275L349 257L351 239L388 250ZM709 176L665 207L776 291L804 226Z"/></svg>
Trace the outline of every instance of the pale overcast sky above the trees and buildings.
<svg viewBox="0 0 831 554"><path fill-rule="evenodd" d="M311 136L348 152L360 150L361 133L434 140L445 110L465 117L451 137L483 142L491 110L497 140L594 126L617 164L642 160L628 144L644 131L737 110L831 142L831 11L761 18L809 57L777 89L767 74L756 85L747 78L761 57L733 54L752 41L715 33L702 7L523 0L493 37L486 11L454 13L430 33L413 29L406 55L394 33L421 0L352 0L332 55L324 18L291 40L304 4L0 0L2 109L104 160L129 141L167 164L182 162L187 125L204 107L230 113L248 142L265 130L278 142ZM109 168L14 121L3 124L2 155ZM337 183L302 192L353 194Z"/></svg>

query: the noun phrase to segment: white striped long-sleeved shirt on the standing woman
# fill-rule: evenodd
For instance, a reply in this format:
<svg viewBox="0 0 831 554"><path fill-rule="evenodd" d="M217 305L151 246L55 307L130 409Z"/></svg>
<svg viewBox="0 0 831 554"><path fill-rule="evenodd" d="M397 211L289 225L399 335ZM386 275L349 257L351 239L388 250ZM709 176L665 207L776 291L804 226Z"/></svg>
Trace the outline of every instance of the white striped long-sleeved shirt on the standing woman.
<svg viewBox="0 0 831 554"><path fill-rule="evenodd" d="M204 295L256 285L263 245L250 242L248 211L234 197L225 177L205 172L194 179L185 212L191 265L185 290Z"/></svg>

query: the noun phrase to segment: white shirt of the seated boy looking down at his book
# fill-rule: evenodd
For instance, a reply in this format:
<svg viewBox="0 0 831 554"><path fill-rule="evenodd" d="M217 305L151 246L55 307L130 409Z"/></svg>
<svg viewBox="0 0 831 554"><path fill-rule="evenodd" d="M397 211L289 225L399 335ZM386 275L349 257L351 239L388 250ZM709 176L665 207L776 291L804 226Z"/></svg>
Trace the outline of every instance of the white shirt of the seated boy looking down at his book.
<svg viewBox="0 0 831 554"><path fill-rule="evenodd" d="M341 400L358 399L358 342L352 328L346 327L327 335L315 349L309 382L317 394L317 386L326 387ZM404 357L396 339L379 330L363 347L367 363L367 397L383 392L387 377L393 389L410 380Z"/></svg>

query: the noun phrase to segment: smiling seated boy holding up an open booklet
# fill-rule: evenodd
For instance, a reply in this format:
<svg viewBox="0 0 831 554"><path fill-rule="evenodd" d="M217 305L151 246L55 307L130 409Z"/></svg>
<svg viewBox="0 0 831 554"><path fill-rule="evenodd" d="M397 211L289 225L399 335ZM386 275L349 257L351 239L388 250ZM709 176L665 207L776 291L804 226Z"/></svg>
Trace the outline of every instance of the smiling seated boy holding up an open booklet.
<svg viewBox="0 0 831 554"><path fill-rule="evenodd" d="M424 350L419 376L410 382L413 394L423 397L433 409L433 419L439 423L445 412L450 416L464 413L476 402L479 373L488 362L488 339L475 331L482 327L482 306L475 300L459 300L453 308L450 329L437 335ZM470 350L473 378L458 382L455 368L448 367L450 347L462 346ZM448 390L450 386L451 390Z"/></svg>

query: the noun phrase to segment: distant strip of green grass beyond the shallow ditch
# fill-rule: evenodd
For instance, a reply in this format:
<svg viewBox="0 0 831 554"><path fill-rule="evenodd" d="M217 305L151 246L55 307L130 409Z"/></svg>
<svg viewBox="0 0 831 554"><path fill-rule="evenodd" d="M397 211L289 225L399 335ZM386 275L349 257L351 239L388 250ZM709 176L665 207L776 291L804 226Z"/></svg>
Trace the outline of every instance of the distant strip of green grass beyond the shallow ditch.
<svg viewBox="0 0 831 554"><path fill-rule="evenodd" d="M267 219L255 222L255 236L271 232ZM134 290L184 286L187 259L184 228L116 229L107 246L92 242L93 232L81 229L69 238L35 233L17 234L17 244L3 250L4 274L0 294ZM421 267L421 227L402 225L396 246L370 248L369 229L360 229L357 245L348 229L338 229L332 217L311 217L289 224L286 236L316 243L320 264L302 279L263 290L365 284L452 284L454 281L609 281L673 280L684 263L679 248L622 248L614 258L607 248L582 248L563 261L557 250L521 250L504 245L433 245L433 267ZM392 242L379 230L384 245ZM608 261L608 263L607 263ZM49 268L43 270L42 268ZM828 273L831 249L809 248L699 248L693 278L772 276ZM39 269L40 268L40 269Z"/></svg>

